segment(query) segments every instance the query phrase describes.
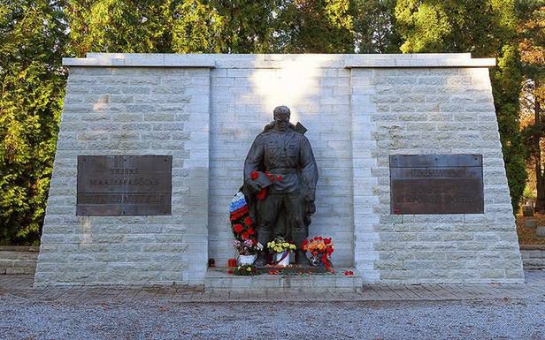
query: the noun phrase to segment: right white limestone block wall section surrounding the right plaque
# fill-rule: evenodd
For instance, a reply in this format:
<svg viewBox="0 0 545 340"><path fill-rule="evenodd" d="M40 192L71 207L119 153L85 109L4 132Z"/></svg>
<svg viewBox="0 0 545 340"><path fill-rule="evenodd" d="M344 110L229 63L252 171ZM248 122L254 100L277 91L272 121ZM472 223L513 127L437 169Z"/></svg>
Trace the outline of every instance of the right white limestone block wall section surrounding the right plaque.
<svg viewBox="0 0 545 340"><path fill-rule="evenodd" d="M357 259L358 246L374 250L357 268L385 283L523 282L487 68L353 68L352 84L353 103L367 103L353 105L355 122L369 126L354 126L354 143L371 153L357 167L355 152L355 195L372 190L355 208ZM391 215L388 156L417 154L482 155L484 214ZM371 178L357 185L357 168Z"/></svg>

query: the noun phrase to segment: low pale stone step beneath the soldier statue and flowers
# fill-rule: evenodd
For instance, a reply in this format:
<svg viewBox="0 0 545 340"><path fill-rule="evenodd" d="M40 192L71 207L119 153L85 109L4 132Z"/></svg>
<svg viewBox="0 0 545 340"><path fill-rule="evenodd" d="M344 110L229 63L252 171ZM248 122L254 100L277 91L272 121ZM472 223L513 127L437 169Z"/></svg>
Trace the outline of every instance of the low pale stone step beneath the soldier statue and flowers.
<svg viewBox="0 0 545 340"><path fill-rule="evenodd" d="M229 268L208 268L204 279L205 291L284 291L284 292L343 292L361 291L361 276L345 275L354 268L336 268L335 273L301 275L236 276Z"/></svg>

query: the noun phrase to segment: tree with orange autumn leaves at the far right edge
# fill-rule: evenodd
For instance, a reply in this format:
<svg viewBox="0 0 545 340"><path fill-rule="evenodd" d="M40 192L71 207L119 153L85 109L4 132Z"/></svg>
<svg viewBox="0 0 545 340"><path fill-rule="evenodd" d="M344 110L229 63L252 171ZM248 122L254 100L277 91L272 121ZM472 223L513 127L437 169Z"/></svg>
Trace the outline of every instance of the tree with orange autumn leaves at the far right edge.
<svg viewBox="0 0 545 340"><path fill-rule="evenodd" d="M529 113L531 122L525 127L524 137L532 164L537 198L536 212L545 212L545 166L542 157L545 137L545 5L541 1L518 3L521 25L518 44L524 71L521 108Z"/></svg>

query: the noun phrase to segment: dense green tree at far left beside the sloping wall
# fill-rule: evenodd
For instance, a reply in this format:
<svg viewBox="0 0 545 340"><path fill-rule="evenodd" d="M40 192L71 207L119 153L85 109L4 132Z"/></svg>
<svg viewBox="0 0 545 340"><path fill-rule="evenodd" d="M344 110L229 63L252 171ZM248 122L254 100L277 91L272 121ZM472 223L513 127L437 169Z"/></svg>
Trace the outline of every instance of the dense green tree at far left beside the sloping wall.
<svg viewBox="0 0 545 340"><path fill-rule="evenodd" d="M39 242L65 88L62 5L0 4L0 244Z"/></svg>

